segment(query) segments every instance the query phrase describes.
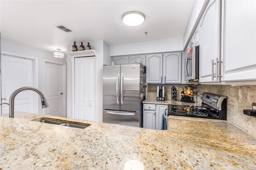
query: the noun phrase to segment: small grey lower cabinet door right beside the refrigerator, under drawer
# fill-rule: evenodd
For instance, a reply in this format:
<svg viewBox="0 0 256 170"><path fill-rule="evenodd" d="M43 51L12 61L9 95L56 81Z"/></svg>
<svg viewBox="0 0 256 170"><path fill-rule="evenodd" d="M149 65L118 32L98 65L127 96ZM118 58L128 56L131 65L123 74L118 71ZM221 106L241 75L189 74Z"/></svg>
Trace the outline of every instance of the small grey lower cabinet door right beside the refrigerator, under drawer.
<svg viewBox="0 0 256 170"><path fill-rule="evenodd" d="M156 129L156 111L143 111L143 128Z"/></svg>

